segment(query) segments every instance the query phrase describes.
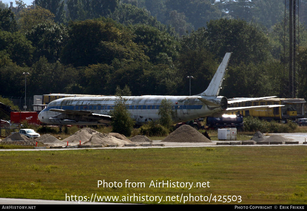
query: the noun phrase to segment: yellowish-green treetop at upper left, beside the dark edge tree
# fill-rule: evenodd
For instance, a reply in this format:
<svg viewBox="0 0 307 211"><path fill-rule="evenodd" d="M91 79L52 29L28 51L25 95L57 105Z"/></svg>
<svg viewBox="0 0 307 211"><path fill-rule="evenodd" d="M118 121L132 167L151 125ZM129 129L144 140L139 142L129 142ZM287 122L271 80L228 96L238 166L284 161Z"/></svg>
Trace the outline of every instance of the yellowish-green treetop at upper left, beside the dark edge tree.
<svg viewBox="0 0 307 211"><path fill-rule="evenodd" d="M34 9L22 10L18 13L18 17L18 27L21 33L29 32L38 24L54 24L54 14L40 6L36 6Z"/></svg>

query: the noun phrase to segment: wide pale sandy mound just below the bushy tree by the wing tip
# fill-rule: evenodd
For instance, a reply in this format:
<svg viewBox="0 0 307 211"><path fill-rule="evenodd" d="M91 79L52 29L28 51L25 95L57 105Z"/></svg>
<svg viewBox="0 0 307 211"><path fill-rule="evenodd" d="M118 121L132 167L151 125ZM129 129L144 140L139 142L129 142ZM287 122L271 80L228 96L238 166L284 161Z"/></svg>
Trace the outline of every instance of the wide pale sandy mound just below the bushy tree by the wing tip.
<svg viewBox="0 0 307 211"><path fill-rule="evenodd" d="M105 147L107 145L119 145L121 147L124 144L132 144L132 142L130 140L126 141L116 138L115 136L97 132L93 134L92 137L87 142L84 142L84 144L82 145L103 145Z"/></svg>

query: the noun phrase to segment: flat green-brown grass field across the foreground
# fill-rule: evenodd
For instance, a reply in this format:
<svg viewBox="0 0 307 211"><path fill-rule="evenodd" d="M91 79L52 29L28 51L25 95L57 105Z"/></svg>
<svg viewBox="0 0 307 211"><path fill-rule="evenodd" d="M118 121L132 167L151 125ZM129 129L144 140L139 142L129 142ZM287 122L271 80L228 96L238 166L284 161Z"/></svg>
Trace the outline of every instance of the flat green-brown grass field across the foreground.
<svg viewBox="0 0 307 211"><path fill-rule="evenodd" d="M8 151L0 152L0 161L0 197L4 198L65 200L66 194L87 198L97 194L122 199L135 194L163 196L161 204L182 204L183 198L181 202L163 200L166 196L171 199L178 195L175 198L180 199L181 194L191 194L203 199L212 196L213 200L216 196L216 202L211 200L211 204L223 204L224 195L241 196L242 200L224 204L306 204L307 201L306 146ZM126 188L127 179L144 182L145 187ZM122 182L123 186L98 188L98 180ZM156 180L193 182L193 186L190 190L149 187ZM210 187L194 188L196 182L208 181ZM208 203L196 199L185 203Z"/></svg>

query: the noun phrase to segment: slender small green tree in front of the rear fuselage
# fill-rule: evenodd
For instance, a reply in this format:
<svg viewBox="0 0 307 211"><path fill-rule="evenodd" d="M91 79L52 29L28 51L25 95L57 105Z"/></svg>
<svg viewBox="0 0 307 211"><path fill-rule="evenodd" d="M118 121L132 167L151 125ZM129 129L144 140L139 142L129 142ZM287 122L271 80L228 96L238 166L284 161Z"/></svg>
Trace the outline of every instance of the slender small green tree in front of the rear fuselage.
<svg viewBox="0 0 307 211"><path fill-rule="evenodd" d="M163 127L171 130L174 125L174 121L172 119L172 116L174 116L172 110L172 101L166 98L161 100L161 105L159 106L158 115L160 117L159 123Z"/></svg>

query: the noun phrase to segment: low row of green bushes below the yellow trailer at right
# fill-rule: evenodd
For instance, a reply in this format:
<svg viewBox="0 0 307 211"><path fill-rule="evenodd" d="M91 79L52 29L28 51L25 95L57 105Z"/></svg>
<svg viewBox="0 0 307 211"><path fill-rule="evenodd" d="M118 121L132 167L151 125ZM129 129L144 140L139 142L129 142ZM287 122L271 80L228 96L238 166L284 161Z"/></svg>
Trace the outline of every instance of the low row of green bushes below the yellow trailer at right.
<svg viewBox="0 0 307 211"><path fill-rule="evenodd" d="M283 133L293 132L297 128L297 124L288 121L286 124L276 121L259 120L258 117L244 117L245 131L260 131L262 133Z"/></svg>

